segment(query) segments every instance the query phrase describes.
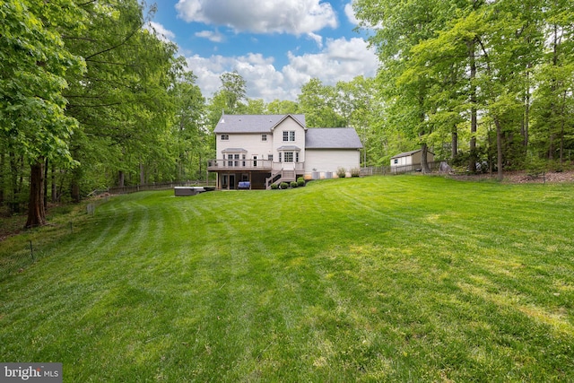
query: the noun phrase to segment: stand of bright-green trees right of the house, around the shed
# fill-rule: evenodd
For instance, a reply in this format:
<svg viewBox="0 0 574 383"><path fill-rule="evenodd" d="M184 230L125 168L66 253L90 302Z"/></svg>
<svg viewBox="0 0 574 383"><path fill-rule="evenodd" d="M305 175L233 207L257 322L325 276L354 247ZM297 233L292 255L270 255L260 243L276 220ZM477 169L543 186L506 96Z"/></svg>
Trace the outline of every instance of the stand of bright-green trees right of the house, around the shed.
<svg viewBox="0 0 574 383"><path fill-rule="evenodd" d="M571 0L355 0L385 125L441 159L563 170L574 149ZM384 130L384 129L383 129ZM423 156L424 157L424 156Z"/></svg>

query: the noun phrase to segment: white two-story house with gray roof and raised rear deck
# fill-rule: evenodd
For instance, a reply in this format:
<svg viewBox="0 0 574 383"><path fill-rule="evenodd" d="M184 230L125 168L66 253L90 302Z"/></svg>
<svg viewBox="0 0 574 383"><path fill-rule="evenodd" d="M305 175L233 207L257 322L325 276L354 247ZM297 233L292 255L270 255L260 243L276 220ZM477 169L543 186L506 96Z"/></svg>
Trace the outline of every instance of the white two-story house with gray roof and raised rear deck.
<svg viewBox="0 0 574 383"><path fill-rule="evenodd" d="M299 177L330 178L339 168L359 168L359 135L353 128L308 128L304 115L223 115L215 130L217 188L251 188Z"/></svg>

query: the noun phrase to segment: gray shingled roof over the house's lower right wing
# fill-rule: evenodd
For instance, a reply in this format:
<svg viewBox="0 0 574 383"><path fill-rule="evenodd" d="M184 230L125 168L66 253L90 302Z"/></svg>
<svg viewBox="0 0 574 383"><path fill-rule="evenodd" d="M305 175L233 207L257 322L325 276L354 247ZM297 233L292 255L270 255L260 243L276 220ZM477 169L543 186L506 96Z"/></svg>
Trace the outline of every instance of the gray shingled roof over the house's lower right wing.
<svg viewBox="0 0 574 383"><path fill-rule="evenodd" d="M307 129L306 149L361 149L361 139L352 127L318 127Z"/></svg>

